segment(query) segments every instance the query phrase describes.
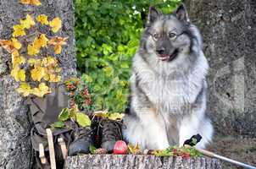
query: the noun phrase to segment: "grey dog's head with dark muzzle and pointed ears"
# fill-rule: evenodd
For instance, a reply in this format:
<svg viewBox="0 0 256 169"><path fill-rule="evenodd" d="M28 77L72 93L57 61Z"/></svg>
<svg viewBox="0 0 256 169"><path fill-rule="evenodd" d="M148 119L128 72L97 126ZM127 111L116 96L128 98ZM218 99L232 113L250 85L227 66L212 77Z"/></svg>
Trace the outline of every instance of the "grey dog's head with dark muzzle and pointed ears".
<svg viewBox="0 0 256 169"><path fill-rule="evenodd" d="M156 8L149 8L148 23L142 37L144 49L161 62L172 62L179 53L189 52L192 46L188 25L183 4L174 13L166 15Z"/></svg>

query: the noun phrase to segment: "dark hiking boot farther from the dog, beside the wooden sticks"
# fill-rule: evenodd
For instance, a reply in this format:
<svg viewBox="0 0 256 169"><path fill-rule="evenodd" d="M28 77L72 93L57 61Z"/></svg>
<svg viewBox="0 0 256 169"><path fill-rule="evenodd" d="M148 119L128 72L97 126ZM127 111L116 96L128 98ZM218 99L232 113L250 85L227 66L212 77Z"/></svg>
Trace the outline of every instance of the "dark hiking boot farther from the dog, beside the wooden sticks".
<svg viewBox="0 0 256 169"><path fill-rule="evenodd" d="M69 155L89 154L92 144L92 129L78 128L75 132L75 140L70 144Z"/></svg>

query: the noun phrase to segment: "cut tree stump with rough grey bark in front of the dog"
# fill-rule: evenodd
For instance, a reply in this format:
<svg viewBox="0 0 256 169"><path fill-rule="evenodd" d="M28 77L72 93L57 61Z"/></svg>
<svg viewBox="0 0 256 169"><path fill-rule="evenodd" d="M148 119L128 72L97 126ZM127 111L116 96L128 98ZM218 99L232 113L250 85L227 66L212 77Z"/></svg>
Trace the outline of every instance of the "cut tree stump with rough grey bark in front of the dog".
<svg viewBox="0 0 256 169"><path fill-rule="evenodd" d="M220 161L209 157L158 157L155 155L69 156L65 169L220 169Z"/></svg>

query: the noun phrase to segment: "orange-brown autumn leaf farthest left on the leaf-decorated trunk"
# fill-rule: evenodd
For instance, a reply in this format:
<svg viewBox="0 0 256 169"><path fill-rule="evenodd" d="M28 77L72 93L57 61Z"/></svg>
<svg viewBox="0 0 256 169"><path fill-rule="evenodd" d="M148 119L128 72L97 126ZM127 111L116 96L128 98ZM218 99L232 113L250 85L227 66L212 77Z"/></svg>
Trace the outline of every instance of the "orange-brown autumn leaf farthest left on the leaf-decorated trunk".
<svg viewBox="0 0 256 169"><path fill-rule="evenodd" d="M9 40L0 40L0 46L2 46L9 53L12 53L15 50L19 50L22 45L16 38L12 38L11 41L9 41Z"/></svg>

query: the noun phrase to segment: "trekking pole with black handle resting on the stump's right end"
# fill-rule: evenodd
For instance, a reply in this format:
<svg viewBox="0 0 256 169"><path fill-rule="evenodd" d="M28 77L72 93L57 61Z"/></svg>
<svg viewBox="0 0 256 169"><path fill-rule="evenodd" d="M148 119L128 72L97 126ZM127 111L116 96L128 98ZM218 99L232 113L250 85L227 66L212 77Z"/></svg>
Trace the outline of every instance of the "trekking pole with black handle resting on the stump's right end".
<svg viewBox="0 0 256 169"><path fill-rule="evenodd" d="M184 145L188 146L188 147L192 147L192 146L196 145L201 139L202 139L202 136L200 134L193 135L191 139L186 139L186 141L184 142ZM227 157L222 156L222 155L216 155L215 153L213 153L209 150L203 150L203 149L199 149L197 147L194 147L194 148L196 150L198 150L200 153L202 153L203 155L213 157L213 158L217 158L217 159L220 159L221 161L226 161L226 162L229 162L229 163L237 165L237 166L242 166L244 168L256 169L255 166L251 166L251 165L239 162L239 161L235 161L235 160L232 160L232 159L227 158Z"/></svg>

